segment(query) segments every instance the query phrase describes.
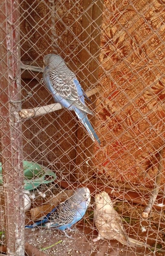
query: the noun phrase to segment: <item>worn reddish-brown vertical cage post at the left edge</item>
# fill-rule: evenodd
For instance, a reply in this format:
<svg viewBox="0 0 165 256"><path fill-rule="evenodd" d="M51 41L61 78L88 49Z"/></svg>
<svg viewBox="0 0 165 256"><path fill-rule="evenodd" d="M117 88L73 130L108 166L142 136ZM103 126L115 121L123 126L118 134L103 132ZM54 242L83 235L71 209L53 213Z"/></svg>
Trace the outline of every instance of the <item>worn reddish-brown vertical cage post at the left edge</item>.
<svg viewBox="0 0 165 256"><path fill-rule="evenodd" d="M5 236L8 255L24 255L24 200L20 86L19 2L1 5L1 156L5 200Z"/></svg>

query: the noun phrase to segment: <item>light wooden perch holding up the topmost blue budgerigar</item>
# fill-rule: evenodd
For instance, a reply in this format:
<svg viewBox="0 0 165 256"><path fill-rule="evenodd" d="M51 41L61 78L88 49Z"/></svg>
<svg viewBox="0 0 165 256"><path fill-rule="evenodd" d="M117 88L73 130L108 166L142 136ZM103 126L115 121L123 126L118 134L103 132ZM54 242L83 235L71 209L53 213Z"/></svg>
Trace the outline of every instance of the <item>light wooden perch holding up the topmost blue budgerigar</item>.
<svg viewBox="0 0 165 256"><path fill-rule="evenodd" d="M96 87L95 89L92 89L85 93L88 97L90 97L93 94L96 94L97 92L100 92L100 91L101 91L101 87ZM47 113L51 113L61 108L63 108L63 106L60 103L53 103L43 107L21 109L19 111L19 115L21 118L29 118L29 117L45 115Z"/></svg>

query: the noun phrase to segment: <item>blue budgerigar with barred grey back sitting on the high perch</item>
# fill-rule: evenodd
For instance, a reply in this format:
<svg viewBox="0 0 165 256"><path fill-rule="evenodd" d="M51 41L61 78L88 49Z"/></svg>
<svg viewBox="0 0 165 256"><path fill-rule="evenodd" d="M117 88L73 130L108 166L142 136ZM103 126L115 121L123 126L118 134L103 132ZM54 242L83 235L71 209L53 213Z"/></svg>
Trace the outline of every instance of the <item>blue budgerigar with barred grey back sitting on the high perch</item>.
<svg viewBox="0 0 165 256"><path fill-rule="evenodd" d="M87 114L94 115L85 105L84 97L89 99L79 84L75 74L67 67L65 61L56 54L47 54L43 58L43 81L56 102L63 107L74 110L76 116L86 127L91 139L100 144Z"/></svg>

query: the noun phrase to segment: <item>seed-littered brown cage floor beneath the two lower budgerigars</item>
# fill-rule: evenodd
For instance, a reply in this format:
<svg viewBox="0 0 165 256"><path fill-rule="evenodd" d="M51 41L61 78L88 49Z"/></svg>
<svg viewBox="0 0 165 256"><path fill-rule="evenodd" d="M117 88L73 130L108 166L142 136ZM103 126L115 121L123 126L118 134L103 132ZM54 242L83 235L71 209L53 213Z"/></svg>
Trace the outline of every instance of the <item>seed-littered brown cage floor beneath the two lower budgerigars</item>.
<svg viewBox="0 0 165 256"><path fill-rule="evenodd" d="M136 229L135 229L136 230ZM155 230L156 231L156 230ZM53 229L35 229L26 231L26 241L29 244L35 245L38 249L44 251L50 256L134 256L134 255L159 255L163 256L164 252L150 251L148 248L122 245L115 240L92 242L92 239L97 236L97 231L84 225L82 220L76 225L76 231L68 232L68 235L73 239L65 237L59 230ZM153 245L156 232L153 237L150 236L148 243ZM133 236L132 236L133 237ZM43 250L44 249L44 250ZM156 253L156 254L155 254Z"/></svg>

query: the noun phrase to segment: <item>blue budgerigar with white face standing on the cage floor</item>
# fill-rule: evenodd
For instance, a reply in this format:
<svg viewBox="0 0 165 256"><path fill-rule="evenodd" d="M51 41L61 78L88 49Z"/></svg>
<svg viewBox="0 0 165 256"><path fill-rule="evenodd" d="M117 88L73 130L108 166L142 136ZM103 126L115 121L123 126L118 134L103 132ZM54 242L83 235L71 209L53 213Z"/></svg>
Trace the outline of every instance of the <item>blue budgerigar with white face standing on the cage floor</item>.
<svg viewBox="0 0 165 256"><path fill-rule="evenodd" d="M89 188L77 188L66 201L55 207L41 220L37 220L33 225L27 225L25 228L35 228L38 226L55 228L63 231L70 238L66 231L83 218L89 204Z"/></svg>

